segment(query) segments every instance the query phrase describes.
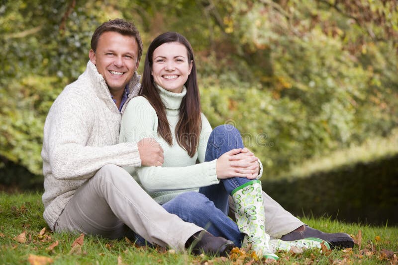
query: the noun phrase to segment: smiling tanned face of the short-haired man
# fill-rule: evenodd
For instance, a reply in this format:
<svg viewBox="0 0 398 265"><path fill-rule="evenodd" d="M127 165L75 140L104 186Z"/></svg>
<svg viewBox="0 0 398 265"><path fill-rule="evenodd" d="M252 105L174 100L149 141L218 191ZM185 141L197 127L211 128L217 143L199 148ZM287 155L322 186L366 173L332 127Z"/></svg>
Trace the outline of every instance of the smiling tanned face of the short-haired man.
<svg viewBox="0 0 398 265"><path fill-rule="evenodd" d="M97 51L90 60L97 66L112 95L122 93L139 65L138 45L134 37L108 31L101 34Z"/></svg>

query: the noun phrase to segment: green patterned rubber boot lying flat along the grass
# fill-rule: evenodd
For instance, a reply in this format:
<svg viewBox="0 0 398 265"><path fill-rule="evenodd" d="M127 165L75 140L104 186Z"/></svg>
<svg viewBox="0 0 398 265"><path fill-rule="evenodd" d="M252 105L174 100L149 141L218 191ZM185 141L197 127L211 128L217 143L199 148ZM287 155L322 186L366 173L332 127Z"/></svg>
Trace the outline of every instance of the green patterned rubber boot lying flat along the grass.
<svg viewBox="0 0 398 265"><path fill-rule="evenodd" d="M280 239L271 239L270 240L270 248L273 252L278 250L290 251L292 247L296 247L298 249L320 249L322 250L322 244L325 246L326 250L330 250L330 245L326 241L315 238L315 237L307 237L303 239L293 240L293 241L283 241Z"/></svg>

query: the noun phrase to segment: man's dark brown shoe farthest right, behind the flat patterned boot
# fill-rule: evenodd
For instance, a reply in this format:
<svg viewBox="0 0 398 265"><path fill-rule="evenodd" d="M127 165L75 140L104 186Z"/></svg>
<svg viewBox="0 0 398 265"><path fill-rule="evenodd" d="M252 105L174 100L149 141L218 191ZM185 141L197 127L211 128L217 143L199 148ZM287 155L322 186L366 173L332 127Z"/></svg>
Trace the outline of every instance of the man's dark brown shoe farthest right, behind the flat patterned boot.
<svg viewBox="0 0 398 265"><path fill-rule="evenodd" d="M296 230L281 237L283 241L292 241L303 239L307 237L316 237L327 241L331 249L334 248L352 248L354 247L354 240L346 233L323 233L319 230L313 229L308 225L302 225Z"/></svg>

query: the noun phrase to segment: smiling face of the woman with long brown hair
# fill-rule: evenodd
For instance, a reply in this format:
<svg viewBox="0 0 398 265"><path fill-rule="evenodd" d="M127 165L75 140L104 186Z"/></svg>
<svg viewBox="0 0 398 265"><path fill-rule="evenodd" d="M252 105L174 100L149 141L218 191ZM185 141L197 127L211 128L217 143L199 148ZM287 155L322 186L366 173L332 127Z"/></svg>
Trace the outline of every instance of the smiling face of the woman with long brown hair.
<svg viewBox="0 0 398 265"><path fill-rule="evenodd" d="M153 51L153 80L168 91L181 93L191 69L187 48L179 42L164 43Z"/></svg>

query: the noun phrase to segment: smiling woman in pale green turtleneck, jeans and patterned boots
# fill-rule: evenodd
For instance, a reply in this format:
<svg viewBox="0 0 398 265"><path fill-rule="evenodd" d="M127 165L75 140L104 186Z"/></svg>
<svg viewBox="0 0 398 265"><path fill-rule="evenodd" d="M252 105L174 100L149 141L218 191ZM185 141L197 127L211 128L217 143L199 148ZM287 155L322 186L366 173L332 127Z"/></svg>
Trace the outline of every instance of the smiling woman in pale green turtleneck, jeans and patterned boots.
<svg viewBox="0 0 398 265"><path fill-rule="evenodd" d="M266 258L277 260L276 248L320 247L320 239L273 240L270 245L257 180L259 161L244 148L234 127L224 125L212 131L201 114L195 59L184 36L167 32L151 43L140 95L123 114L119 140L137 142L152 136L162 145L163 166L126 170L166 210L237 246L242 241L252 244ZM229 195L234 199L237 224L226 216Z"/></svg>

